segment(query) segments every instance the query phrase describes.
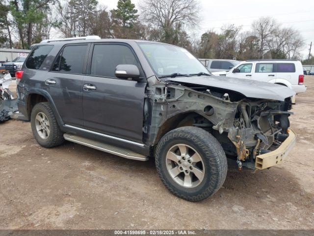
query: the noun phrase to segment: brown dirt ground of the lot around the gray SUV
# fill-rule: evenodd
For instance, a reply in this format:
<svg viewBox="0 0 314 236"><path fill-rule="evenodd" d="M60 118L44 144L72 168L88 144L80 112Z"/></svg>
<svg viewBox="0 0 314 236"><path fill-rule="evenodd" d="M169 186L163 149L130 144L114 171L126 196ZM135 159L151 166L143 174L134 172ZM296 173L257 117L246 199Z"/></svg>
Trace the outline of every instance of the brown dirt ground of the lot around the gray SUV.
<svg viewBox="0 0 314 236"><path fill-rule="evenodd" d="M42 148L30 123L0 124L1 229L314 229L314 76L290 118L297 145L269 170L229 172L211 198L170 194L153 161L66 142Z"/></svg>

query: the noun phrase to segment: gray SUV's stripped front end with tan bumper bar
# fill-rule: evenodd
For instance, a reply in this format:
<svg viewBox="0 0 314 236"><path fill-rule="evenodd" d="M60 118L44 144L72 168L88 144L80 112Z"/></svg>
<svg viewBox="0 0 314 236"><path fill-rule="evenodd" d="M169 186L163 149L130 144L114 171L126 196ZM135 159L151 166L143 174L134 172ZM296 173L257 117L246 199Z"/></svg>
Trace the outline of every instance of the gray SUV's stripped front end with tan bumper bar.
<svg viewBox="0 0 314 236"><path fill-rule="evenodd" d="M239 102L234 127L228 131L228 138L236 148L239 169L245 166L262 170L282 162L295 143L295 134L288 129L290 109L290 98L283 102L260 99ZM272 151L280 148L287 139L288 149L273 155Z"/></svg>

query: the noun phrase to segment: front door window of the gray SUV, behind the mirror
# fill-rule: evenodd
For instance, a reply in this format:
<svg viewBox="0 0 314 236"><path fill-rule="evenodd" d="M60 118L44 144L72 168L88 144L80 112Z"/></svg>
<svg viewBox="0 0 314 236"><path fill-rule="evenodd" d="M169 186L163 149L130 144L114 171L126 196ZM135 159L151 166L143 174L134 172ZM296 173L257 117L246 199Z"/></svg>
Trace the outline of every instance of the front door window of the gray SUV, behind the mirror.
<svg viewBox="0 0 314 236"><path fill-rule="evenodd" d="M116 78L114 72L119 64L136 65L142 77L140 64L127 46L109 44L94 46L91 75Z"/></svg>

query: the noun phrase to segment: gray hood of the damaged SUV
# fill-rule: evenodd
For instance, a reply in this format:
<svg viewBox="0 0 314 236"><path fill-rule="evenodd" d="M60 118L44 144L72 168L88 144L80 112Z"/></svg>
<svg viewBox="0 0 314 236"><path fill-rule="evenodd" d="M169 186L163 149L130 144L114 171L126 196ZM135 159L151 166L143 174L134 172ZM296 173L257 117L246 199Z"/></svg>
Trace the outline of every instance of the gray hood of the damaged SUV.
<svg viewBox="0 0 314 236"><path fill-rule="evenodd" d="M289 89L286 86L225 76L192 76L169 79L175 82L232 90L252 98L285 101L285 98L295 94L292 89Z"/></svg>

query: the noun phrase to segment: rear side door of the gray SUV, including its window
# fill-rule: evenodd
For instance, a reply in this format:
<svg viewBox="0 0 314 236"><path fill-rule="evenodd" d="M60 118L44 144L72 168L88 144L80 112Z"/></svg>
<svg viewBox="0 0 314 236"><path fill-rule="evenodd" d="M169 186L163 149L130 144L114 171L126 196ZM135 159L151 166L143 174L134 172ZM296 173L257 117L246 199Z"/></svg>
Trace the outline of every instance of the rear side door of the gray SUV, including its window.
<svg viewBox="0 0 314 236"><path fill-rule="evenodd" d="M88 44L65 45L57 56L45 84L63 122L83 126L82 81Z"/></svg>

